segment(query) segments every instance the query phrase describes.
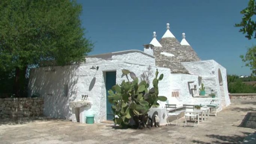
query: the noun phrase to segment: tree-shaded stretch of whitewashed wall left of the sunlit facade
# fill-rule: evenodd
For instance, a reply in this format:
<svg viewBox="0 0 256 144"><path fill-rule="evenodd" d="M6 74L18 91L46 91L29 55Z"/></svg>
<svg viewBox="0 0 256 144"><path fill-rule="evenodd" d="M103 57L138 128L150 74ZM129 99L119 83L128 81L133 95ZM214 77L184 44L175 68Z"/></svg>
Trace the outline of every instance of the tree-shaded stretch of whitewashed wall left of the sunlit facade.
<svg viewBox="0 0 256 144"><path fill-rule="evenodd" d="M76 99L76 71L79 65L64 67L41 67L30 73L29 95L40 94L45 98L44 115L55 118L69 118L68 102ZM64 117L67 116L67 117Z"/></svg>

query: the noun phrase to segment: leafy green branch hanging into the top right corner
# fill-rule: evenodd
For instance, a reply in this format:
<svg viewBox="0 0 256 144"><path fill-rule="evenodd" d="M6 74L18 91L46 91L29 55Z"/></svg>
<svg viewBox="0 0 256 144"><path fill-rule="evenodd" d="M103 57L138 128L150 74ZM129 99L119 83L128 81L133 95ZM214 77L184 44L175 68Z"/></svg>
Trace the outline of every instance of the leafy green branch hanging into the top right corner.
<svg viewBox="0 0 256 144"><path fill-rule="evenodd" d="M243 9L240 13L244 16L240 24L235 24L235 27L242 27L239 31L243 34L246 33L245 37L249 40L252 39L253 34L254 38L256 38L256 1L249 0L248 7Z"/></svg>

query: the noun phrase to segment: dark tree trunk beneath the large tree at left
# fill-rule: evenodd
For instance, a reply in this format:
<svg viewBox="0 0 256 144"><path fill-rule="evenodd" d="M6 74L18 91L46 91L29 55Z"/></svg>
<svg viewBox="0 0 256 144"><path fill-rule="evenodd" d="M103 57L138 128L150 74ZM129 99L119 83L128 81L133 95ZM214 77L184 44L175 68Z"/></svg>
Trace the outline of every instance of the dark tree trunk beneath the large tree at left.
<svg viewBox="0 0 256 144"><path fill-rule="evenodd" d="M26 74L27 66L24 68L15 68L15 81L14 81L14 94L15 97L22 97L25 94L25 81L26 81Z"/></svg>

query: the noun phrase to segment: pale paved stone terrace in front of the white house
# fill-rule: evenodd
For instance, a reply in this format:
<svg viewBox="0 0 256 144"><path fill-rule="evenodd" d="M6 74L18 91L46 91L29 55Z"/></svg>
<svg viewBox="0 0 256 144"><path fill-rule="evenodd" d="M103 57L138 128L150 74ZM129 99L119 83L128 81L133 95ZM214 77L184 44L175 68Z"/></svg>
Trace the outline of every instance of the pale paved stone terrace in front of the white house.
<svg viewBox="0 0 256 144"><path fill-rule="evenodd" d="M232 104L201 122L198 128L161 126L147 130L113 129L110 124L80 124L34 118L0 120L1 144L239 144L256 129L239 126L247 112L256 112L256 99L232 99ZM192 123L189 123L191 126Z"/></svg>

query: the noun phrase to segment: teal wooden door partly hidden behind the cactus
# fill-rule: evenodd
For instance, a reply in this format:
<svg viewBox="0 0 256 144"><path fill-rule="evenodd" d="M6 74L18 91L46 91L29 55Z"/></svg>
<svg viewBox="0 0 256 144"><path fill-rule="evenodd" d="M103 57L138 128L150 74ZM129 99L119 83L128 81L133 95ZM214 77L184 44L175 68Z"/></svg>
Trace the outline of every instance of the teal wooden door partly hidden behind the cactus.
<svg viewBox="0 0 256 144"><path fill-rule="evenodd" d="M112 89L112 86L116 85L116 71L106 72L106 92L109 89ZM108 96L109 93L107 92ZM113 120L114 114L111 108L112 104L110 104L109 99L107 98L107 120Z"/></svg>

